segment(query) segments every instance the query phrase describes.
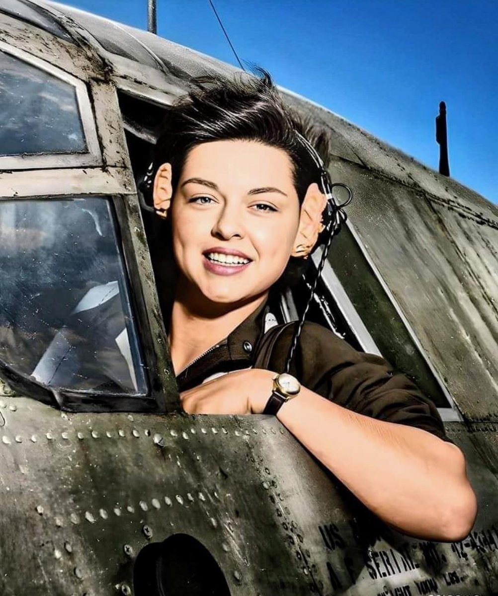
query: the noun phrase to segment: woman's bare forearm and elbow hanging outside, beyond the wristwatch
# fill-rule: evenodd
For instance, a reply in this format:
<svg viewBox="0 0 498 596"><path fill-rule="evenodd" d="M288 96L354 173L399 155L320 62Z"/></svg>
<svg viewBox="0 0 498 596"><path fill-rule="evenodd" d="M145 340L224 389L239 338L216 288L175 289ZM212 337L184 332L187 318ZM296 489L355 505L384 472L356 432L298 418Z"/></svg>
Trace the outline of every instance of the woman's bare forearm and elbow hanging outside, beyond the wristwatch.
<svg viewBox="0 0 498 596"><path fill-rule="evenodd" d="M306 387L277 417L384 522L438 541L470 532L477 501L465 458L451 443L357 414Z"/></svg>

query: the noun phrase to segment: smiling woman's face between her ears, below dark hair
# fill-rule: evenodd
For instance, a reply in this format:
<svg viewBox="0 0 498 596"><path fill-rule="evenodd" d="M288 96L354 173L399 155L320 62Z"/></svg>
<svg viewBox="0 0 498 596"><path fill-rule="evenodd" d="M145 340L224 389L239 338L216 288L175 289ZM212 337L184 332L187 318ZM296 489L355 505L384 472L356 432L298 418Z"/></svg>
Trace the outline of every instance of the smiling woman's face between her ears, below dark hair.
<svg viewBox="0 0 498 596"><path fill-rule="evenodd" d="M175 259L192 296L250 302L282 275L298 232L290 157L255 141L196 145L170 211Z"/></svg>

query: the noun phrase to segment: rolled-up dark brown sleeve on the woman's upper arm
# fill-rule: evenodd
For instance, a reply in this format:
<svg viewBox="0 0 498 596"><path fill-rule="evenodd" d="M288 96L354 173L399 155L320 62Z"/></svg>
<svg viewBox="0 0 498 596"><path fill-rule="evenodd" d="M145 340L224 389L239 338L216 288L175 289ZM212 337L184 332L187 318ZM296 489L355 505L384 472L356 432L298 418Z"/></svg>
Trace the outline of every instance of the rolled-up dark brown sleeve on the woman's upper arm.
<svg viewBox="0 0 498 596"><path fill-rule="evenodd" d="M270 365L283 370L293 327L274 346ZM301 331L291 374L315 393L359 414L407 424L453 443L434 403L388 361L358 352L332 331L307 321Z"/></svg>

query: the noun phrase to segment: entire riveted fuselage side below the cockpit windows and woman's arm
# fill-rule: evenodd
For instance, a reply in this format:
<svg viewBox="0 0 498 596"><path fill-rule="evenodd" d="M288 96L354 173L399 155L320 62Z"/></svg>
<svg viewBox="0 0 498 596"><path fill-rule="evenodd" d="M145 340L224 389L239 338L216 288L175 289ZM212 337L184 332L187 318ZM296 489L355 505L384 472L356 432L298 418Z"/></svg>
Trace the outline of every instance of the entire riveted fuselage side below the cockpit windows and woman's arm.
<svg viewBox="0 0 498 596"><path fill-rule="evenodd" d="M234 595L498 585L498 480L460 423L448 432L480 517L464 541L442 543L387 529L274 417L65 414L11 396L0 414L2 594L131 589L138 552L174 533L208 548Z"/></svg>

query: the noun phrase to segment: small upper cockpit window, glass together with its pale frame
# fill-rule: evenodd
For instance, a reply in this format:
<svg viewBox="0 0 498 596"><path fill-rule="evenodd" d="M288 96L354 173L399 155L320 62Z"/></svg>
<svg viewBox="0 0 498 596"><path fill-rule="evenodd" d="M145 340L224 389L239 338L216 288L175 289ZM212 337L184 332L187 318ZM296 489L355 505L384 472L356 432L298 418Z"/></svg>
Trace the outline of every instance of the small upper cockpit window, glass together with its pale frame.
<svg viewBox="0 0 498 596"><path fill-rule="evenodd" d="M82 81L0 43L0 169L100 162Z"/></svg>

